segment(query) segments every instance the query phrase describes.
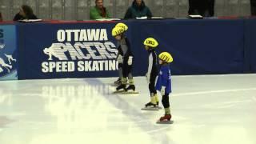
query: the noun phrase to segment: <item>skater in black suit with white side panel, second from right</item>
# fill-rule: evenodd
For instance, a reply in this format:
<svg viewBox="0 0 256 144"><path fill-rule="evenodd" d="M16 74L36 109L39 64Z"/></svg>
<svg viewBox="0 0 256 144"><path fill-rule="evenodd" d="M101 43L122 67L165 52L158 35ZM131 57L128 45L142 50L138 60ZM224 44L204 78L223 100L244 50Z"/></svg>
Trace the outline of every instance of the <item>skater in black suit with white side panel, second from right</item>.
<svg viewBox="0 0 256 144"><path fill-rule="evenodd" d="M144 41L144 46L149 54L146 80L149 83L150 102L146 103L145 108L142 108L142 110L159 110L160 107L158 106L158 94L154 86L155 79L158 76L158 56L155 52L155 49L158 46L158 41L154 38L146 38L146 40Z"/></svg>

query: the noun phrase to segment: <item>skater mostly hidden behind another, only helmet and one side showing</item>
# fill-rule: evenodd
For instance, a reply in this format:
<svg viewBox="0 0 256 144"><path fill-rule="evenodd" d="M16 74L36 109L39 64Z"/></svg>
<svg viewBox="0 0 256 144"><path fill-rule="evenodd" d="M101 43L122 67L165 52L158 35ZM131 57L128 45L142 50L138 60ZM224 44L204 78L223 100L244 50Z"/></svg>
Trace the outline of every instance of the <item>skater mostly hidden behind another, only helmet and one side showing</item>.
<svg viewBox="0 0 256 144"><path fill-rule="evenodd" d="M126 32L126 30L128 30L128 26L126 26L125 23L122 23L122 22L119 22L115 27L122 27L125 31L124 33ZM122 61L123 61L123 58L122 58L123 54L122 54L122 48L121 46L118 46L118 55L117 55L117 61L118 61L118 80L114 81L114 86L119 86L121 85L121 80L122 80Z"/></svg>

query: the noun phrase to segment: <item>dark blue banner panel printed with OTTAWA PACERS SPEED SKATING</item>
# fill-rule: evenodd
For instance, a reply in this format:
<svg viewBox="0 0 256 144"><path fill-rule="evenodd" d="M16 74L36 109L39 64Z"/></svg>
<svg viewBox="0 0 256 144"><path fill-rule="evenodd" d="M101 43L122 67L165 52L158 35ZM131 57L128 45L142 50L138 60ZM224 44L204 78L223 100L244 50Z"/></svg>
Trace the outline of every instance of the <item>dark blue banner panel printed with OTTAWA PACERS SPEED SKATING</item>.
<svg viewBox="0 0 256 144"><path fill-rule="evenodd" d="M118 75L115 23L20 24L19 79Z"/></svg>

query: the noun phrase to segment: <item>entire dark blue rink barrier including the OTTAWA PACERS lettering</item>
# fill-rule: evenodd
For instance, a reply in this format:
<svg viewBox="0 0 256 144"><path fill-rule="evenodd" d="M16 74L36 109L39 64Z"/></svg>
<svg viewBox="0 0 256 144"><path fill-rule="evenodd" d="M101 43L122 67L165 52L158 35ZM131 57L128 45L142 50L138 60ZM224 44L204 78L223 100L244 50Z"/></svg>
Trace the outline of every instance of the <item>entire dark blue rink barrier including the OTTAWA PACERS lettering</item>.
<svg viewBox="0 0 256 144"><path fill-rule="evenodd" d="M256 72L256 19L122 22L129 26L126 36L134 53L134 76L146 74L148 56L142 42L148 37L158 40L158 54L173 55L172 74ZM118 44L111 36L116 23L15 23L18 79L118 76Z"/></svg>

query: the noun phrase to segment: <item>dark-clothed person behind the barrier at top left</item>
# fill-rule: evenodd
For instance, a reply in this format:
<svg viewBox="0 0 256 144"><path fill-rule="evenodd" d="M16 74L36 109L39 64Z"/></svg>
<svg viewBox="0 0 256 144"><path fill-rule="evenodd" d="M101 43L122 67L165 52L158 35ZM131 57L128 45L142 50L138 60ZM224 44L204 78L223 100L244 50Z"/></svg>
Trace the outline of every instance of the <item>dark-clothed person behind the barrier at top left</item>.
<svg viewBox="0 0 256 144"><path fill-rule="evenodd" d="M30 6L22 5L18 14L14 16L14 21L22 20L22 19L38 19L37 16L34 15L33 10Z"/></svg>

